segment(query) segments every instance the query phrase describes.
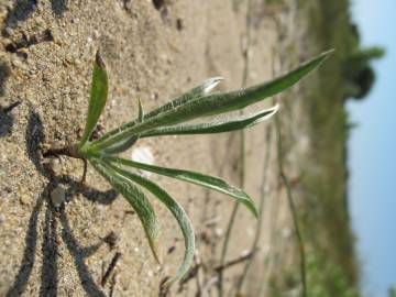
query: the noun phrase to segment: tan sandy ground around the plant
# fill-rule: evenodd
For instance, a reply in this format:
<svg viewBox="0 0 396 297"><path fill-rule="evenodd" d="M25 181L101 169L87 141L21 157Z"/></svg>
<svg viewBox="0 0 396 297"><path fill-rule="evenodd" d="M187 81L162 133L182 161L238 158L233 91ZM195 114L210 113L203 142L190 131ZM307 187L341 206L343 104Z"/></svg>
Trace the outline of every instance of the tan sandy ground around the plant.
<svg viewBox="0 0 396 297"><path fill-rule="evenodd" d="M241 86L246 1L154 2L1 0L0 296L109 296L111 292L112 296L158 296L160 283L180 263L182 234L157 201L153 199L162 223L161 266L128 202L92 168L81 185L78 161L61 158L44 166L42 158L42 147L81 136L98 48L111 85L100 120L105 130L135 117L138 98L148 111L211 76L224 77L221 90ZM289 63L296 65L296 61L282 58L292 42L279 38L283 32L266 16L264 1L253 2L249 85L270 79L274 69L283 72ZM288 9L280 16L285 16L279 22L289 34L287 28L296 15ZM7 110L16 101L21 103ZM298 102L288 110L286 119L298 118ZM273 151L263 234L246 282L248 296L257 296L260 284L268 280L271 265L293 262L283 255L294 257L288 252L293 229L284 189L278 186L275 143L270 145L265 139L268 127L264 123L246 134L245 189L256 201L264 154ZM148 147L156 164L209 173L239 184L238 133L150 139L136 146ZM51 177L48 167L63 178ZM172 296L196 296L202 287L208 288L207 296L216 296L210 282L216 276L213 267L219 264L233 201L196 186L152 178L186 208L197 237L199 273L183 287L174 286ZM56 183L66 190L67 205L62 213L54 211L48 198ZM254 239L256 224L250 213L241 208L237 220L228 260L249 251ZM114 234L114 244L109 234ZM114 273L102 286L102 276L117 253L121 257ZM226 272L227 292L240 273L241 265Z"/></svg>

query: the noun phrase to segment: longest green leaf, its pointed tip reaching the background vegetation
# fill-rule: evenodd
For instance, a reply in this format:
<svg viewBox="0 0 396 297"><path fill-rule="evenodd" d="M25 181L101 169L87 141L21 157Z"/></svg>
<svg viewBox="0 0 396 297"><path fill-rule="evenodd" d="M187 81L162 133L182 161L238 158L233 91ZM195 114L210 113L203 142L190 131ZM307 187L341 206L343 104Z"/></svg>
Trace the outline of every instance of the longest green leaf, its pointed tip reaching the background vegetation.
<svg viewBox="0 0 396 297"><path fill-rule="evenodd" d="M323 63L323 61L327 59L331 53L332 51L326 52L302 64L295 70L292 70L290 73L283 75L270 82L260 84L238 91L198 97L197 99L190 100L187 103L170 109L164 113L160 113L152 119L147 119L143 123L124 124L114 135L106 140L101 139L96 141L92 147L96 150L103 148L131 135L141 134L160 127L174 125L200 117L220 114L256 103L295 85L304 76ZM132 127L130 127L130 124L132 124Z"/></svg>

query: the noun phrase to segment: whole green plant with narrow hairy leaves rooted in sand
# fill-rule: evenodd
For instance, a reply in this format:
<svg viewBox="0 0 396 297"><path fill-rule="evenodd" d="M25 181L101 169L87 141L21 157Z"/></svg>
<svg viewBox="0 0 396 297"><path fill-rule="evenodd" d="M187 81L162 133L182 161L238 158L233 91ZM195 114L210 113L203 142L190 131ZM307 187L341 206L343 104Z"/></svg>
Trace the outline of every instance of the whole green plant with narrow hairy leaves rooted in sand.
<svg viewBox="0 0 396 297"><path fill-rule="evenodd" d="M211 134L255 125L273 116L277 111L277 107L222 121L206 121L194 124L182 123L198 118L240 110L274 96L295 85L304 76L317 68L330 54L331 52L326 52L270 82L242 90L210 94L221 80L221 78L211 78L146 114L139 100L138 119L106 133L97 140L90 140L108 97L108 74L105 63L98 53L94 64L88 117L81 141L67 147L51 148L44 153L44 156L67 155L80 158L85 162L85 169L87 162L89 162L114 189L122 194L136 211L143 224L150 248L157 261L156 240L160 231L158 220L152 205L140 187L153 194L170 210L182 229L186 246L183 264L175 276L165 284L165 286L170 285L187 273L193 262L195 239L191 223L182 206L163 188L141 175L127 170L127 168L139 168L165 175L227 194L243 204L257 217L255 204L242 189L229 185L221 178L195 172L138 163L114 155L124 152L142 138L175 134ZM85 174L82 178L85 178Z"/></svg>

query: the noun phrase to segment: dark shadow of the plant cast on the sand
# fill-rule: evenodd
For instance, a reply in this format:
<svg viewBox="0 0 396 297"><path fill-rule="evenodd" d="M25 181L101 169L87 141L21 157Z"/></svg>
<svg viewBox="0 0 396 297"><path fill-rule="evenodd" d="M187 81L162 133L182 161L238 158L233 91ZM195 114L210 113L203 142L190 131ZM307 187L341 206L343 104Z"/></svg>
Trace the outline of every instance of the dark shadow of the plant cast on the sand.
<svg viewBox="0 0 396 297"><path fill-rule="evenodd" d="M37 224L40 220L40 212L42 211L43 206L45 206L43 244L41 250L43 255L43 264L41 270L40 296L57 295L57 262L59 255L58 245L62 244L58 235L61 234L63 243L65 243L74 258L74 263L78 272L78 277L86 295L92 297L105 297L106 294L95 283L94 277L85 263L85 260L99 249L99 246L102 244L102 241L98 241L98 243L90 246L81 246L73 235L73 231L70 229L65 210L66 206L62 205L59 209L56 209L48 201L47 197L51 190L59 184L68 187L66 195L81 194L90 201L102 205L111 204L118 196L118 193L113 189L108 191L99 191L88 186L80 185L80 183L73 180L70 177L56 177L46 170L41 162L40 153L40 146L45 140L43 124L40 116L34 110L30 111L25 140L29 158L34 164L36 170L48 179L48 183L38 196L37 201L32 210L31 217L29 219L28 232L25 235L25 249L23 252L21 266L6 296L20 296L26 289L37 253ZM58 231L58 222L62 224L61 232Z"/></svg>

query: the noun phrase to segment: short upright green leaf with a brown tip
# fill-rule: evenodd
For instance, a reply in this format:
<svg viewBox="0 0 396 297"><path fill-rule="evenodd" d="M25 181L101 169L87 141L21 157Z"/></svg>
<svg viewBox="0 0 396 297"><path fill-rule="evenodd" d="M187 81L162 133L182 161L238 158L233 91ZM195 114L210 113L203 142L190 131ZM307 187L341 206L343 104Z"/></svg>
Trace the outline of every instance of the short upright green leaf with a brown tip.
<svg viewBox="0 0 396 297"><path fill-rule="evenodd" d="M92 86L89 99L88 117L84 130L82 140L79 144L80 147L89 141L90 135L95 131L95 128L98 123L100 114L103 111L108 98L108 90L109 78L106 72L105 63L98 51L94 63Z"/></svg>

